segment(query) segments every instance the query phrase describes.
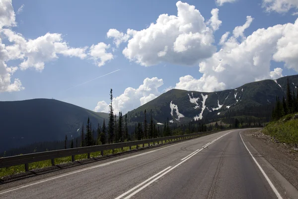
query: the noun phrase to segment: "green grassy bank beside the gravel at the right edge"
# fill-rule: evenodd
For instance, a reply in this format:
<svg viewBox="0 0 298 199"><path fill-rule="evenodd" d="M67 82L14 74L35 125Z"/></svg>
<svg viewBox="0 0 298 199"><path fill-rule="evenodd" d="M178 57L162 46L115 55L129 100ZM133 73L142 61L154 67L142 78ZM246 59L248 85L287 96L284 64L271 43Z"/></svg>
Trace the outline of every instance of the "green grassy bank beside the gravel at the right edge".
<svg viewBox="0 0 298 199"><path fill-rule="evenodd" d="M270 122L263 133L275 137L279 142L298 144L298 119L291 119L294 115L289 114L278 121Z"/></svg>

